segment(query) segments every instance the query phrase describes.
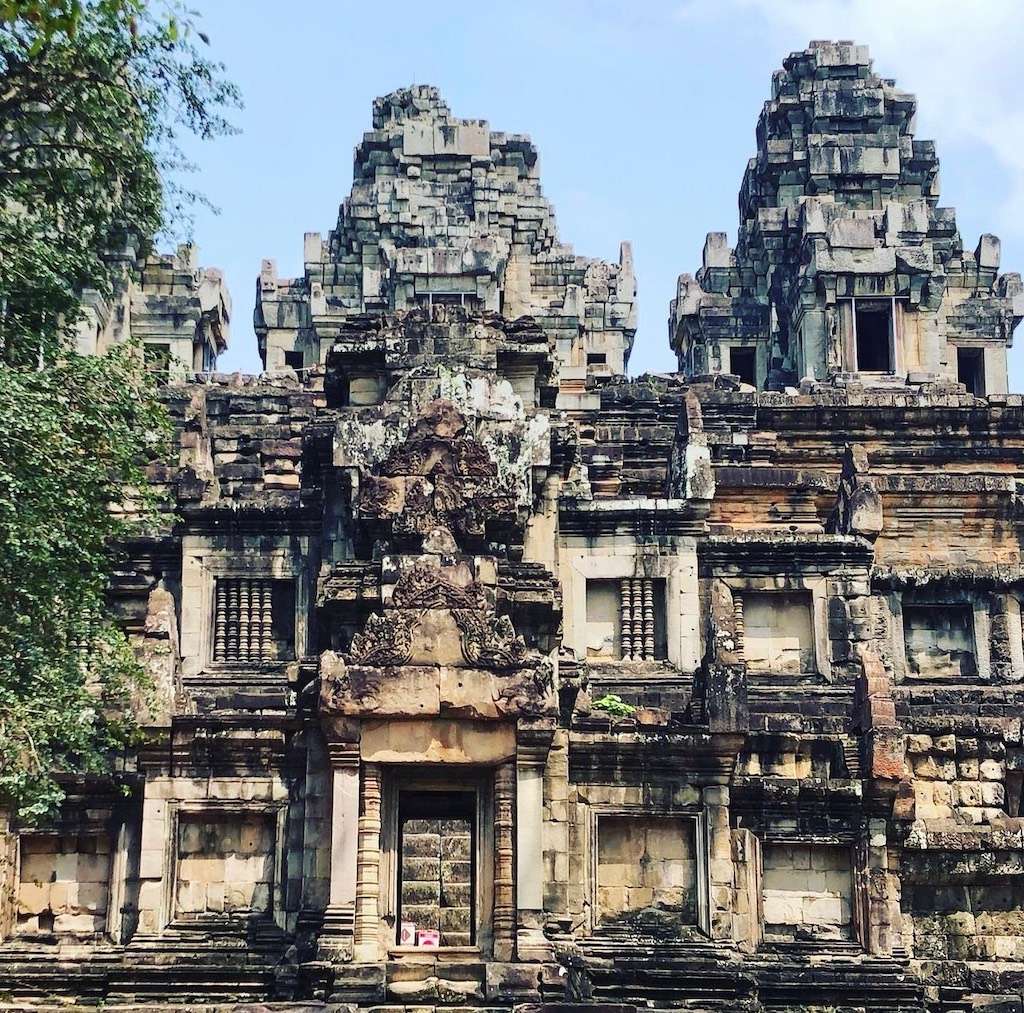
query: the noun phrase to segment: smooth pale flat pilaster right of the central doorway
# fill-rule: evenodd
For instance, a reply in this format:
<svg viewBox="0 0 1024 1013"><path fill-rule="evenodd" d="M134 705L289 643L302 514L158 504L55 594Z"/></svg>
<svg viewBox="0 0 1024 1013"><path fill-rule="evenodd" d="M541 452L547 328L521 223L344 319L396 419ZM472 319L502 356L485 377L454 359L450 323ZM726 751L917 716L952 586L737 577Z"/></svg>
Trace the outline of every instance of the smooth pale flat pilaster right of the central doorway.
<svg viewBox="0 0 1024 1013"><path fill-rule="evenodd" d="M547 960L544 938L544 767L551 729L524 734L516 748L516 956Z"/></svg>

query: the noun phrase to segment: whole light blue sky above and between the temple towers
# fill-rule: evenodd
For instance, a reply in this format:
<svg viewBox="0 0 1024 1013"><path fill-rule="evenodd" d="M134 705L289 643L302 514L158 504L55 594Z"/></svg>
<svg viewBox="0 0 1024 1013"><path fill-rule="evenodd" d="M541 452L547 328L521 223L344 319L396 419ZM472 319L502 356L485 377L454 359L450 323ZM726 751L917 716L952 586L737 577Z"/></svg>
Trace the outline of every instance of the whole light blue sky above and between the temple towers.
<svg viewBox="0 0 1024 1013"><path fill-rule="evenodd" d="M437 85L456 116L528 133L559 231L586 256L633 243L639 330L630 371L673 369L666 318L708 231L735 241L736 193L772 72L811 39L866 43L919 98L942 203L965 245L1002 240L1024 270L1024 27L1018 0L209 0L201 25L239 84L238 136L189 146L190 183L220 209L195 240L234 303L227 370L258 370L260 260L302 270L351 185L375 95ZM1024 389L1024 336L1011 385Z"/></svg>

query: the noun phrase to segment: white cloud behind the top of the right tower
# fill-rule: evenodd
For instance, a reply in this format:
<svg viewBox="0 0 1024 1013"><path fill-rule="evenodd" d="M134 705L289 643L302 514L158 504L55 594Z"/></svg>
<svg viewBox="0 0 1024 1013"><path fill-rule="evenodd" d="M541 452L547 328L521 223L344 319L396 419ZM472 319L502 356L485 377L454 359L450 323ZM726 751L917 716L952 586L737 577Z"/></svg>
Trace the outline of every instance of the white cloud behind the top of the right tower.
<svg viewBox="0 0 1024 1013"><path fill-rule="evenodd" d="M1009 180L1002 228L1024 235L1020 0L686 0L676 14L757 17L783 51L811 39L866 43L876 70L918 95L919 136L981 145L997 161Z"/></svg>

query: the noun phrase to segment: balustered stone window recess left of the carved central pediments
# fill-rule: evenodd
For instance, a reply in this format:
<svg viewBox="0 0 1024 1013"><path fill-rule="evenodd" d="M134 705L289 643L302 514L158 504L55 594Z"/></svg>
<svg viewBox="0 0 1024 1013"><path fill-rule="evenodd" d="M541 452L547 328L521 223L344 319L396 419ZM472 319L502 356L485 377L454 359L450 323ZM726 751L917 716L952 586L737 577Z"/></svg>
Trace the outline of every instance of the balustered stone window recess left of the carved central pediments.
<svg viewBox="0 0 1024 1013"><path fill-rule="evenodd" d="M215 598L215 662L260 664L295 658L294 581L222 578Z"/></svg>

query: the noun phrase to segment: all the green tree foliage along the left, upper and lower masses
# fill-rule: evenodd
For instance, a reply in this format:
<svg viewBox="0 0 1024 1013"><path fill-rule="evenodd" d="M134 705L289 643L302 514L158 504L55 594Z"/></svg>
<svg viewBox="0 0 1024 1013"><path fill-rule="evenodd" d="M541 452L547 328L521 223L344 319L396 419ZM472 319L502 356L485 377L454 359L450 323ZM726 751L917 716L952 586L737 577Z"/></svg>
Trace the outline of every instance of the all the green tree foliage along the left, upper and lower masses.
<svg viewBox="0 0 1024 1013"><path fill-rule="evenodd" d="M0 805L25 819L135 734L104 593L169 423L137 347L82 356L74 329L186 216L179 132L228 129L195 37L176 3L0 0Z"/></svg>

